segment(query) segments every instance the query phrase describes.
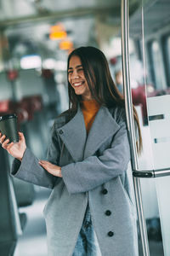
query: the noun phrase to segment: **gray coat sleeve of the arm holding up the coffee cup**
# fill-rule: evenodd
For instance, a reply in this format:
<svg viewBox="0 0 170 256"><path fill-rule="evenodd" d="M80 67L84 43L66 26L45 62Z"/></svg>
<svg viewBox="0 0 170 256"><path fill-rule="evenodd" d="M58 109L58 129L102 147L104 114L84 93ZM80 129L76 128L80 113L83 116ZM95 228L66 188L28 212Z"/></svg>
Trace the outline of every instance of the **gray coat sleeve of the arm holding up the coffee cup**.
<svg viewBox="0 0 170 256"><path fill-rule="evenodd" d="M55 132L55 125L52 128L51 143L48 148L48 161L58 165L59 163L59 141ZM32 154L29 148L26 148L22 161L14 159L11 174L26 182L34 183L42 187L53 189L54 183L58 177L54 177L38 164L37 157Z"/></svg>

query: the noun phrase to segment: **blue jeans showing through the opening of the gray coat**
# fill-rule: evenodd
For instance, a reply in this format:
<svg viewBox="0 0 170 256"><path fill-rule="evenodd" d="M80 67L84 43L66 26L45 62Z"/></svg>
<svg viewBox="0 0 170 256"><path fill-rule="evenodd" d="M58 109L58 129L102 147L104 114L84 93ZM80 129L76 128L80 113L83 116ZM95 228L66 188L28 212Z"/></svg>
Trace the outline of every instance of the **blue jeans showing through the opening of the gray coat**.
<svg viewBox="0 0 170 256"><path fill-rule="evenodd" d="M92 225L89 207L87 207L82 228L72 256L101 256L99 244Z"/></svg>

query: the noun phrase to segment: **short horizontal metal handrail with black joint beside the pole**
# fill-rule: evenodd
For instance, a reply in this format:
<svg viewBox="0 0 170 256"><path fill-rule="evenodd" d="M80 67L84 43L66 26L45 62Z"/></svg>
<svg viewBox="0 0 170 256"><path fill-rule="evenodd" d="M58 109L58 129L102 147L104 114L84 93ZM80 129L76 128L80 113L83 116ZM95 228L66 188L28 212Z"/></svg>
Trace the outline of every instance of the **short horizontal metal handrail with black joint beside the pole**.
<svg viewBox="0 0 170 256"><path fill-rule="evenodd" d="M156 170L133 170L133 177L165 177L170 175L170 167Z"/></svg>

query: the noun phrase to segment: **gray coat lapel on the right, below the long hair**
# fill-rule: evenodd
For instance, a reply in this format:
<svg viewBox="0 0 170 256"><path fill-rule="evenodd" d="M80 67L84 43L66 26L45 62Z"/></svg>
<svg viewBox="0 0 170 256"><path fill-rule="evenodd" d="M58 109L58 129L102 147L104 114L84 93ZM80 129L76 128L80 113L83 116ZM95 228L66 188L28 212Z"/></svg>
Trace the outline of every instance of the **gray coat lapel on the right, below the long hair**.
<svg viewBox="0 0 170 256"><path fill-rule="evenodd" d="M111 116L108 108L101 107L97 113L94 124L92 125L87 138L87 143L84 148L84 159L93 155L96 150L105 142L105 140L118 131L120 126Z"/></svg>

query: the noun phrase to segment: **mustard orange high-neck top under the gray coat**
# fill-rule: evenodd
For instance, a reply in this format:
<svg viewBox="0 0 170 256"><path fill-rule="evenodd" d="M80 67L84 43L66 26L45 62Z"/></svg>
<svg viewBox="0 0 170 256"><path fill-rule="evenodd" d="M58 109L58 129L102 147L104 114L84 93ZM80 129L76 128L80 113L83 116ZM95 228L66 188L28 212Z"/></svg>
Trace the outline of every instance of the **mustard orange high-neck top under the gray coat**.
<svg viewBox="0 0 170 256"><path fill-rule="evenodd" d="M81 102L81 108L82 108L84 123L86 125L87 132L90 130L94 122L94 119L96 114L98 113L99 107L100 107L99 103L96 102L95 100Z"/></svg>

